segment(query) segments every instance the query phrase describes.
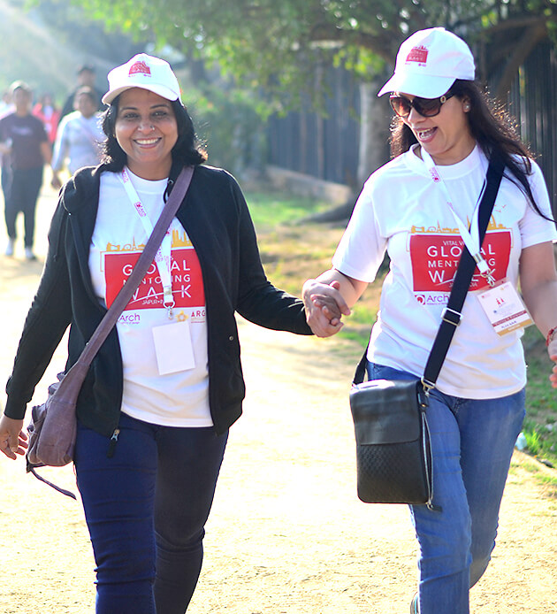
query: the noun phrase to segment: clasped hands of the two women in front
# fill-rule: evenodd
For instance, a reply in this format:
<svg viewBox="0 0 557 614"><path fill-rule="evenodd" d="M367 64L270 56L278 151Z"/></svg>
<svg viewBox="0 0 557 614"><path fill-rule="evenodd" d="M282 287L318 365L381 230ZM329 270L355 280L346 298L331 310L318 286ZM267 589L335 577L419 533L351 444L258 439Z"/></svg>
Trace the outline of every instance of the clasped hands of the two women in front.
<svg viewBox="0 0 557 614"><path fill-rule="evenodd" d="M318 280L307 280L301 291L306 319L309 327L317 337L331 337L342 328L342 316L350 315L343 296L340 294L340 283L331 281L324 283Z"/></svg>

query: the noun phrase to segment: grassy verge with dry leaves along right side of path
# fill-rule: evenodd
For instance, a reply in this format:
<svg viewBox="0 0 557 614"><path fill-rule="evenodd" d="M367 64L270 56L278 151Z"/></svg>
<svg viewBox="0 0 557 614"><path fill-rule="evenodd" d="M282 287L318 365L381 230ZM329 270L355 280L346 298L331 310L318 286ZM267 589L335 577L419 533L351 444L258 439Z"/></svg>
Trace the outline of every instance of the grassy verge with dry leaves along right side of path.
<svg viewBox="0 0 557 614"><path fill-rule="evenodd" d="M331 258L344 230L337 224L306 224L301 220L326 209L326 203L261 189L248 192L247 200L259 238L263 265L279 288L300 295L301 285L330 268ZM385 272L383 265L382 272ZM381 281L366 289L346 320L339 336L365 347L375 322ZM523 434L532 456L557 466L557 391L549 384L551 361L542 335L535 326L523 338L528 364L526 419Z"/></svg>

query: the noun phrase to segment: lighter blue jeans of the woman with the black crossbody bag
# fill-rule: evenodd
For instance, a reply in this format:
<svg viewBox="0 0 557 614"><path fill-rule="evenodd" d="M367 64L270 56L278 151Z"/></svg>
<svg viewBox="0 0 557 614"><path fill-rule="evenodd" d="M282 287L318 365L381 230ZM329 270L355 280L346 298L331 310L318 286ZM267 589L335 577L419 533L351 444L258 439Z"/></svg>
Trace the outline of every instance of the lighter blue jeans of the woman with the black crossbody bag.
<svg viewBox="0 0 557 614"><path fill-rule="evenodd" d="M415 379L368 365L370 379ZM524 419L524 390L497 399L430 393L427 410L433 456L433 503L412 505L418 541L421 614L468 614L469 587L482 577L495 547L500 503L516 437Z"/></svg>

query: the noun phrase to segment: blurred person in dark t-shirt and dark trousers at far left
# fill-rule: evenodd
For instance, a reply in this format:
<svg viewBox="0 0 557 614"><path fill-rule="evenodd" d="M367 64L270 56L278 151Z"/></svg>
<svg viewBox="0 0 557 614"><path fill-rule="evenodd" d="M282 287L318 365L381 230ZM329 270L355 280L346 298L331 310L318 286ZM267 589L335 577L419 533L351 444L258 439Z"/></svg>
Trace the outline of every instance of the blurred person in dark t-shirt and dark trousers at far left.
<svg viewBox="0 0 557 614"><path fill-rule="evenodd" d="M31 114L32 92L23 81L11 85L15 111L0 119L0 153L9 156L11 173L3 185L4 216L8 231L6 256L13 256L16 219L25 218L25 256L34 260L34 211L42 186L42 169L50 164L50 142L42 121Z"/></svg>

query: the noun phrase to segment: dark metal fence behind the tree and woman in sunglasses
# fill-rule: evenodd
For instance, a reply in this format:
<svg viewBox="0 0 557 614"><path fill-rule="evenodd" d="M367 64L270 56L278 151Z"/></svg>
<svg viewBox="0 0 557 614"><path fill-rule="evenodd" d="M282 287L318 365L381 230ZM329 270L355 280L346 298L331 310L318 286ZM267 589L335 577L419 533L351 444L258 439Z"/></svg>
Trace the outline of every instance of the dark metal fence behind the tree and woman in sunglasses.
<svg viewBox="0 0 557 614"><path fill-rule="evenodd" d="M305 111L271 118L269 164L354 186L360 139L358 83L340 68L331 69L328 78L332 95L325 100L324 116ZM521 67L508 108L544 171L557 214L557 55L550 42L539 44Z"/></svg>

